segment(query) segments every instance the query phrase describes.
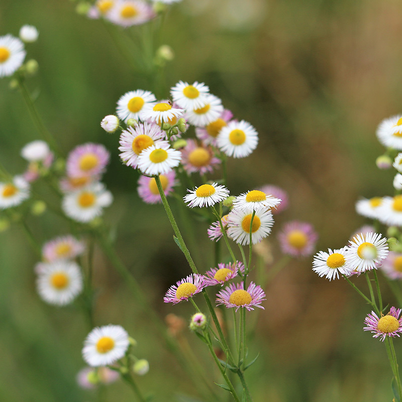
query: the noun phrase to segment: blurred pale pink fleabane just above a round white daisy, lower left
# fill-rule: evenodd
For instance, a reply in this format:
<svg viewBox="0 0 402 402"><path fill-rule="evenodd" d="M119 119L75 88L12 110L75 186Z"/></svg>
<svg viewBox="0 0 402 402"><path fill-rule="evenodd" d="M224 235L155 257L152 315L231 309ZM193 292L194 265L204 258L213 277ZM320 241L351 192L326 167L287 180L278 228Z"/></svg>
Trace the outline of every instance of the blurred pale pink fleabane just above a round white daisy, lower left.
<svg viewBox="0 0 402 402"><path fill-rule="evenodd" d="M42 255L45 261L72 259L84 252L84 244L71 235L56 237L45 243Z"/></svg>

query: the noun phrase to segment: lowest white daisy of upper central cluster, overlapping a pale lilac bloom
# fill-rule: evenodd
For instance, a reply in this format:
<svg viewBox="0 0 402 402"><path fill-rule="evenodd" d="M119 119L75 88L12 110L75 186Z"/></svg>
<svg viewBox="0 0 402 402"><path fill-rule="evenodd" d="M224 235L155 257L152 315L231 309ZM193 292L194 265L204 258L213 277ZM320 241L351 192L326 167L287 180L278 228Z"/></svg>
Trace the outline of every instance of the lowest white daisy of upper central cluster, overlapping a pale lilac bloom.
<svg viewBox="0 0 402 402"><path fill-rule="evenodd" d="M138 168L148 176L164 174L179 165L181 152L161 142L144 149L138 155Z"/></svg>

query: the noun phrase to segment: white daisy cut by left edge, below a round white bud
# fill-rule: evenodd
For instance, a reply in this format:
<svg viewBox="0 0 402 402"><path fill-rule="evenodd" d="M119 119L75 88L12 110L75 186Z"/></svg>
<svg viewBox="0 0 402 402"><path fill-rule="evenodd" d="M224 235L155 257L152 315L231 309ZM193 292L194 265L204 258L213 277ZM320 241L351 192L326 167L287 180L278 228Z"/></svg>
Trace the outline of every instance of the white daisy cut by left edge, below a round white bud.
<svg viewBox="0 0 402 402"><path fill-rule="evenodd" d="M12 35L0 36L0 78L13 75L22 66L26 54L20 39Z"/></svg>

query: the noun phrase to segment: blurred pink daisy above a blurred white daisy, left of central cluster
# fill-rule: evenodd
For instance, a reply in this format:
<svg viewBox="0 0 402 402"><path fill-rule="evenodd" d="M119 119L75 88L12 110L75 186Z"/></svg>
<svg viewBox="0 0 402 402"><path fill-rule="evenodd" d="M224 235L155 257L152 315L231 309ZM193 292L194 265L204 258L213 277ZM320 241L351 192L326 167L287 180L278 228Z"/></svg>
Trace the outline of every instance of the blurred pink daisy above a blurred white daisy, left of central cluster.
<svg viewBox="0 0 402 402"><path fill-rule="evenodd" d="M78 145L67 157L67 175L70 177L99 175L104 172L109 157L109 151L101 144L88 142Z"/></svg>

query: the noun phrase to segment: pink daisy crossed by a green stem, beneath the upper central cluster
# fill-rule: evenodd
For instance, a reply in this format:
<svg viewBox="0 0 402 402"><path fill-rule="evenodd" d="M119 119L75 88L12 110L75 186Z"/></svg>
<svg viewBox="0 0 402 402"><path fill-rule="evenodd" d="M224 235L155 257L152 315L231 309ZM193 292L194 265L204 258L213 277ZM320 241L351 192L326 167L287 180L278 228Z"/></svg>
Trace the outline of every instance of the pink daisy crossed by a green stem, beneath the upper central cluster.
<svg viewBox="0 0 402 402"><path fill-rule="evenodd" d="M176 172L171 170L166 174L160 174L159 179L166 196L173 192L173 187L177 185ZM158 187L154 177L140 176L138 180L138 195L147 204L159 204L162 202Z"/></svg>

